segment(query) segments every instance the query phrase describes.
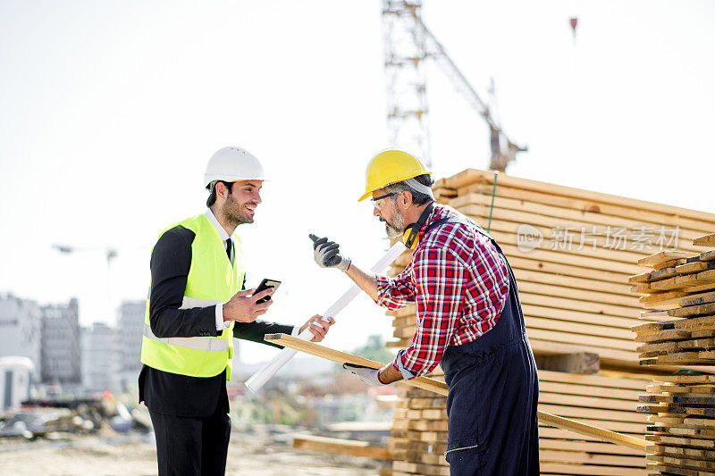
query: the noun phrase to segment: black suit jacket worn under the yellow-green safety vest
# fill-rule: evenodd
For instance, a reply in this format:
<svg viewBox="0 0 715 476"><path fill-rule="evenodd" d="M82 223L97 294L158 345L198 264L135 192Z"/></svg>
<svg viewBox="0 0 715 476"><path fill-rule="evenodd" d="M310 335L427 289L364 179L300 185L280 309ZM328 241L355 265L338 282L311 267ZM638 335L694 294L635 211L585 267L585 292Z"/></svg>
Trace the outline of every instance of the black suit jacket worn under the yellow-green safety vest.
<svg viewBox="0 0 715 476"><path fill-rule="evenodd" d="M217 336L216 306L179 309L191 266L191 244L195 234L181 226L166 230L151 255L149 322L158 338ZM265 334L290 334L293 326L275 322L235 322L233 337L265 342ZM139 374L139 403L154 412L177 416L205 417L220 410L228 412L226 377L188 377L162 372L145 365Z"/></svg>

